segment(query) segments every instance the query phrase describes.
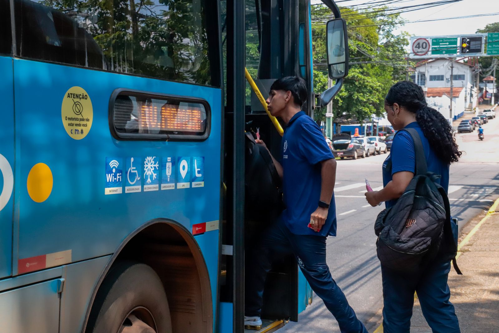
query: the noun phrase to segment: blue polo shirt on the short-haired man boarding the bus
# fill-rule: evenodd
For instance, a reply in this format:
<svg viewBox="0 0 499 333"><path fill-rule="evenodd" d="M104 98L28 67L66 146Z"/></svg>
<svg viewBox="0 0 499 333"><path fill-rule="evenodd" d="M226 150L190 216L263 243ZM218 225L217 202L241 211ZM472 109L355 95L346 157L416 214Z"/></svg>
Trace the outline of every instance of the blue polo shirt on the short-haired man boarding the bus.
<svg viewBox="0 0 499 333"><path fill-rule="evenodd" d="M319 126L305 112L296 113L282 136L283 192L286 209L281 219L296 235L336 236L336 206L331 198L326 223L315 232L308 228L310 215L320 200L321 165L334 158Z"/></svg>

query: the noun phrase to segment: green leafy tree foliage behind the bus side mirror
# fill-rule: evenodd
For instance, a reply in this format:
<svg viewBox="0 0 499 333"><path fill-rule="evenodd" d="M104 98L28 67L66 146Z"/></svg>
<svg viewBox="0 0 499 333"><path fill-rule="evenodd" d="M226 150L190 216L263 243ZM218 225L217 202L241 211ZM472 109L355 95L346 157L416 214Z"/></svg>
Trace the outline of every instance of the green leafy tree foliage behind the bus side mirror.
<svg viewBox="0 0 499 333"><path fill-rule="evenodd" d="M332 101L336 121L363 122L384 112L384 97L392 84L405 79L408 62L405 46L409 34L394 34L402 22L399 14L341 8L347 22L349 74ZM332 17L324 5L312 6L314 90L327 89L326 22ZM383 25L380 25L383 24ZM367 62L367 63L364 63ZM412 64L410 62L409 64ZM315 111L315 120L325 120L325 109ZM334 120L333 120L334 121Z"/></svg>

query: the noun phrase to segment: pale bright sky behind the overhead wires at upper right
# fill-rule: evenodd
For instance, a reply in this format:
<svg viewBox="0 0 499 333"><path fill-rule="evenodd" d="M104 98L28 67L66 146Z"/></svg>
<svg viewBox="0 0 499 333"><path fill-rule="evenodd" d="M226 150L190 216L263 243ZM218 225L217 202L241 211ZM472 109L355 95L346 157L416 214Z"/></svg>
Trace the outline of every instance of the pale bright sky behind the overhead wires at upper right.
<svg viewBox="0 0 499 333"><path fill-rule="evenodd" d="M374 2L379 0L351 0L340 2L338 5L352 6L370 1ZM434 1L436 0L403 0L389 6L409 6ZM321 1L319 0L312 0L312 3L320 2ZM375 8L372 8L371 10L375 10ZM409 11L402 13L401 16L408 21L416 21L493 12L499 12L499 0L462 0L433 8ZM401 26L400 29L397 29L395 33L407 31L416 36L470 34L475 33L477 29L484 28L486 24L494 22L499 22L499 15L407 23L404 26Z"/></svg>

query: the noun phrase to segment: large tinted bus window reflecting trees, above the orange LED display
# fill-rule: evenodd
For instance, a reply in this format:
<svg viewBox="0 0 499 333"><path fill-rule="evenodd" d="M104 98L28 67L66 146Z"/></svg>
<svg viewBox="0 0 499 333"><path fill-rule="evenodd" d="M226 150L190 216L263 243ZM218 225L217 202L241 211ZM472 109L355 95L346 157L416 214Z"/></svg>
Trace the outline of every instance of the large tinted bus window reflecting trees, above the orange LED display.
<svg viewBox="0 0 499 333"><path fill-rule="evenodd" d="M14 3L20 57L211 84L205 0Z"/></svg>

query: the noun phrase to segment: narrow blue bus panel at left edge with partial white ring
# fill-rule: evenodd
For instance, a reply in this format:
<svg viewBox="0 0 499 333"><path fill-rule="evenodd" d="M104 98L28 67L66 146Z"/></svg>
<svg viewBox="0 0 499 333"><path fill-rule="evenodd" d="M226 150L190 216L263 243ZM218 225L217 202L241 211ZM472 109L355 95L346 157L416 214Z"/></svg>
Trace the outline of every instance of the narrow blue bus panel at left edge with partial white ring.
<svg viewBox="0 0 499 333"><path fill-rule="evenodd" d="M12 275L14 93L12 58L0 57L0 279Z"/></svg>

